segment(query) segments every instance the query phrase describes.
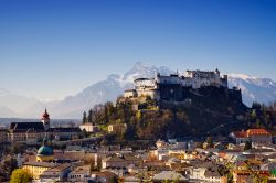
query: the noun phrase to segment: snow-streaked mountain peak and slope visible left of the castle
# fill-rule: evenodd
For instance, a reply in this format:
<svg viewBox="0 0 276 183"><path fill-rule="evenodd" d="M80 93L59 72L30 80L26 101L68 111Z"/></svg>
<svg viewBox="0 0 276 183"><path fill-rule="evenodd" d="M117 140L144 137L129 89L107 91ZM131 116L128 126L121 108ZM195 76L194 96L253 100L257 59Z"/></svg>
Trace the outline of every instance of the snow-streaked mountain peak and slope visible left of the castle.
<svg viewBox="0 0 276 183"><path fill-rule="evenodd" d="M76 96L66 97L63 101L52 107L54 116L75 118L81 117L96 104L113 101L123 95L126 88L134 87L134 79L138 77L153 77L158 72L163 75L172 73L166 67L156 67L138 62L124 75L112 74L105 80L88 86Z"/></svg>

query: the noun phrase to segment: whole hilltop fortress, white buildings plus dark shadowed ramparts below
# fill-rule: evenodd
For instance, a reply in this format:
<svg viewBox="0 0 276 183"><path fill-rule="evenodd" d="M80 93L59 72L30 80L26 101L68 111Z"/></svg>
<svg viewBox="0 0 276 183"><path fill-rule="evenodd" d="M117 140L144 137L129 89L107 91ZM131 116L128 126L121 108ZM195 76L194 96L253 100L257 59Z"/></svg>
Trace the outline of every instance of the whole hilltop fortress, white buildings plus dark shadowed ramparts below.
<svg viewBox="0 0 276 183"><path fill-rule="evenodd" d="M220 71L187 71L184 74L160 75L155 78L137 78L134 80L135 88L124 93L125 98L142 98L161 103L183 103L191 101L191 93L201 96L198 92L208 88L217 88L225 93L225 97L242 101L241 90L237 88L229 89L227 75L221 76ZM208 92L206 92L208 93ZM204 93L203 93L204 95Z"/></svg>

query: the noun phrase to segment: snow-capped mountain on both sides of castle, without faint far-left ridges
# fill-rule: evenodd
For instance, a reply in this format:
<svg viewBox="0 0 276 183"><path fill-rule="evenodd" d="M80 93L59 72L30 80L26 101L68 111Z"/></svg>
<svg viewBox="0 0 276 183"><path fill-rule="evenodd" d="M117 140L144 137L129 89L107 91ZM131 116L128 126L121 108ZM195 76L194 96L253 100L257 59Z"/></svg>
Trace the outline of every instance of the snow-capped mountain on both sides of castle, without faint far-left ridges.
<svg viewBox="0 0 276 183"><path fill-rule="evenodd" d="M105 80L98 82L76 96L70 96L53 107L53 115L57 117L81 117L96 104L115 100L127 88L132 88L134 79L138 77L155 77L157 73L170 75L174 73L167 67L157 67L141 62L123 75L112 74ZM253 101L269 103L276 100L276 83L267 78L256 78L244 74L231 74L229 86L242 89L243 101L251 106Z"/></svg>

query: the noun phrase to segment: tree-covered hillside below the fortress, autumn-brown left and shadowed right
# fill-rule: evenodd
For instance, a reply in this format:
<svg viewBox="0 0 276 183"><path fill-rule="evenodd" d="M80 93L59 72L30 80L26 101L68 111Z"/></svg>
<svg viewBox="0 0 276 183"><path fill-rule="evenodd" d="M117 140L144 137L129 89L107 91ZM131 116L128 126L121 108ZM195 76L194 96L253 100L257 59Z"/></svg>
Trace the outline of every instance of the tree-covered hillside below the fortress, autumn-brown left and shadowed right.
<svg viewBox="0 0 276 183"><path fill-rule="evenodd" d="M84 112L83 122L99 125L103 129L112 123L126 123L127 130L119 133L117 140L226 136L232 130L261 127L275 131L273 107L254 104L247 108L230 89L190 88L185 95L191 99L189 105L170 101L160 105L148 96L119 97L115 104L96 105Z"/></svg>

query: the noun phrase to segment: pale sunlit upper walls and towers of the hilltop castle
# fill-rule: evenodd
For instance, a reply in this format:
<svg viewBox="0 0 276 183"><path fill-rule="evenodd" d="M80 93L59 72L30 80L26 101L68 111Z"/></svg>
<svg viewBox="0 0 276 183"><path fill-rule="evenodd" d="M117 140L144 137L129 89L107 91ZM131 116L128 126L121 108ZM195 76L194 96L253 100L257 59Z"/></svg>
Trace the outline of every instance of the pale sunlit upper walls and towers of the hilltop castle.
<svg viewBox="0 0 276 183"><path fill-rule="evenodd" d="M216 86L227 88L227 75L221 77L220 71L187 71L184 74L171 74L170 76L161 76L157 74L155 78L137 78L135 79L135 88L127 89L124 97L141 97L150 96L152 99L160 99L160 85L171 86L170 93L176 92L176 87L191 87L193 89ZM172 89L173 88L173 89Z"/></svg>

